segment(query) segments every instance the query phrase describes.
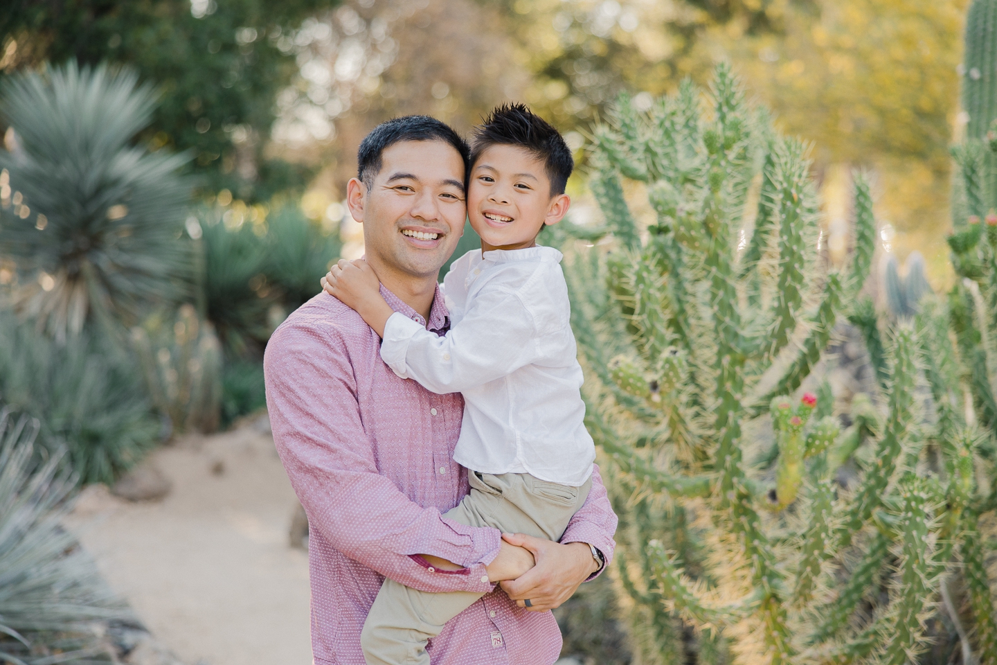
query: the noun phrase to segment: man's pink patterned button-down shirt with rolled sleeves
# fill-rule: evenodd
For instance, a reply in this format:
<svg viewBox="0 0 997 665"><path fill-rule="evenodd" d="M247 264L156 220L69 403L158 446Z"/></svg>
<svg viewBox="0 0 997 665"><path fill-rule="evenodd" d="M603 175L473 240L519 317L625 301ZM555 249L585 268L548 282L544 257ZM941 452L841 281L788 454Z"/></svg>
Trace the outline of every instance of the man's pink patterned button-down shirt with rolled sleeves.
<svg viewBox="0 0 997 665"><path fill-rule="evenodd" d="M439 291L428 322L381 292L395 311L447 329ZM553 663L561 647L553 615L516 607L488 581L498 530L441 516L468 494L467 470L452 458L464 401L398 378L379 346L356 312L323 292L291 314L266 348L274 443L308 513L315 662L364 665L360 630L390 576L423 591L486 593L430 641L434 665ZM608 562L615 529L596 469L561 541L589 542ZM414 556L420 553L465 568L434 570Z"/></svg>

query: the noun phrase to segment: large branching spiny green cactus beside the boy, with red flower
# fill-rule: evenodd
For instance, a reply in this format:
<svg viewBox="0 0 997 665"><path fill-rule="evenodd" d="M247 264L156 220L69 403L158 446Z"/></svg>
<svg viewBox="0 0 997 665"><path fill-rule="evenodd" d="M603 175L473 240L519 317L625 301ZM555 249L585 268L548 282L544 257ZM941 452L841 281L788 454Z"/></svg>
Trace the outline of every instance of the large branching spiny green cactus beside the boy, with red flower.
<svg viewBox="0 0 997 665"><path fill-rule="evenodd" d="M854 250L830 268L804 147L745 103L726 66L709 99L684 84L646 114L622 101L591 159L613 240L568 252L572 322L597 379L587 425L609 462L635 642L648 663L672 662L675 636L691 630L710 644L698 663L902 665L951 573L943 543L967 532L958 506L984 508L975 449L958 444L977 440L945 383L954 351L934 348L948 338L922 308L885 336L883 415L856 400L840 431L829 390L791 397L869 271L868 183L855 173ZM648 218L625 196L641 189ZM934 410L943 426L922 413L922 374L951 406ZM837 487L849 459L859 480ZM870 593L876 580L885 602Z"/></svg>

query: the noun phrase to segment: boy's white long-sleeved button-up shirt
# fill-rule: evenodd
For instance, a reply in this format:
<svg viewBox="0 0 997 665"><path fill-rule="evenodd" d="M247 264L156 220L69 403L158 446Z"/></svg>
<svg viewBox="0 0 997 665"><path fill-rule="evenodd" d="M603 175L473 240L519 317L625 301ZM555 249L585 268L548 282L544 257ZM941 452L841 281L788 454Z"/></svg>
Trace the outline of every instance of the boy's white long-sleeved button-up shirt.
<svg viewBox="0 0 997 665"><path fill-rule="evenodd" d="M402 314L388 319L381 358L395 374L464 394L454 460L468 469L573 487L592 473L560 260L552 247L469 251L444 278L446 336Z"/></svg>

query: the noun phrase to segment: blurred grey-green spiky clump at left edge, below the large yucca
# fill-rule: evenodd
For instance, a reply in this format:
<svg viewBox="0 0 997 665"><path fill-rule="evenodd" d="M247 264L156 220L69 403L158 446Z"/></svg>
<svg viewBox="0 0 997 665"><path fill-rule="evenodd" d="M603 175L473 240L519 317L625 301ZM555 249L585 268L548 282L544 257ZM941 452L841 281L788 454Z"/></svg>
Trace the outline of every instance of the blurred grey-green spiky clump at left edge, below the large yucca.
<svg viewBox="0 0 997 665"><path fill-rule="evenodd" d="M59 343L0 311L0 399L39 419L82 483L113 483L159 441L135 358L87 331Z"/></svg>

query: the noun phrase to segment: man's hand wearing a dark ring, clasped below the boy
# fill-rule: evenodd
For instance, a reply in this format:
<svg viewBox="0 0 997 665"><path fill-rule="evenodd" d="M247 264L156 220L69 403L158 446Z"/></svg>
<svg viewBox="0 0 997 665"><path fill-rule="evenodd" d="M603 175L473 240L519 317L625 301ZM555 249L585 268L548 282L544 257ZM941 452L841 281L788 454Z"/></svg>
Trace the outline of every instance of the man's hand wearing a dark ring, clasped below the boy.
<svg viewBox="0 0 997 665"><path fill-rule="evenodd" d="M501 583L502 589L519 607L543 612L559 607L570 598L578 586L599 569L592 558L592 550L584 542L560 544L522 533L502 533L502 539L531 551L536 565L510 581Z"/></svg>

